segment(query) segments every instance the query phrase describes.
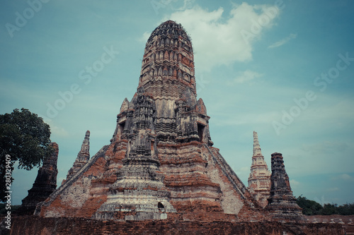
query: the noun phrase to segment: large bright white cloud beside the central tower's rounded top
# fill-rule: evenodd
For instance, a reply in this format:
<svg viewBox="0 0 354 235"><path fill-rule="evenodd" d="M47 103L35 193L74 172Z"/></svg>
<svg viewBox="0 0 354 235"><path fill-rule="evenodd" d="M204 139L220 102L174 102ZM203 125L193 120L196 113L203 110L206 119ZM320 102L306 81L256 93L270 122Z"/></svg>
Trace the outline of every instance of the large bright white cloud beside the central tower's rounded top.
<svg viewBox="0 0 354 235"><path fill-rule="evenodd" d="M252 42L273 25L280 10L275 6L243 3L233 6L229 16L224 9L208 11L196 5L165 18L181 23L193 42L196 70L252 59ZM245 37L245 32L251 35Z"/></svg>

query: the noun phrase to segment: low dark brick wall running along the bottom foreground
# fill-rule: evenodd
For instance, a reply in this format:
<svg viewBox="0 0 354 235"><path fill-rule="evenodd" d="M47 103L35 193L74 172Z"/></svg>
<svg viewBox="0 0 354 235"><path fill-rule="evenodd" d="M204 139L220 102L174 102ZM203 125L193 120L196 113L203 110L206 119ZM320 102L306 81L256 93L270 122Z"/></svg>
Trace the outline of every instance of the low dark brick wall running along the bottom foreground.
<svg viewBox="0 0 354 235"><path fill-rule="evenodd" d="M98 221L84 218L12 218L11 235L95 234L344 234L341 224L281 224L278 222L198 222L181 220Z"/></svg>

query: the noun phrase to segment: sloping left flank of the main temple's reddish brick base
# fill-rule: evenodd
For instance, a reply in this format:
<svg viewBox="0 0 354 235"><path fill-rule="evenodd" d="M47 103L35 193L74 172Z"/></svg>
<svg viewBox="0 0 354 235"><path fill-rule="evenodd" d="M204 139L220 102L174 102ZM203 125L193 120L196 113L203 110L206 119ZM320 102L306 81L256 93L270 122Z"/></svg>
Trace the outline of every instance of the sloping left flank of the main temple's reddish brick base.
<svg viewBox="0 0 354 235"><path fill-rule="evenodd" d="M114 174L106 175L107 161L103 147L79 171L39 203L35 215L42 217L86 217L105 202L110 184L115 182ZM90 174L85 174L85 173Z"/></svg>

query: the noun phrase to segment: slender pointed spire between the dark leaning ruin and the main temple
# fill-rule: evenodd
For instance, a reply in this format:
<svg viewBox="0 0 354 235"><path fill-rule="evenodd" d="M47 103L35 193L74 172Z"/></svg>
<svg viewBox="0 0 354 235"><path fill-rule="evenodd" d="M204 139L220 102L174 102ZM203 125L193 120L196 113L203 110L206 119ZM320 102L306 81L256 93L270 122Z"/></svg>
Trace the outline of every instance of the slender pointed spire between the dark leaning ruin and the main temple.
<svg viewBox="0 0 354 235"><path fill-rule="evenodd" d="M72 178L72 176L76 174L76 172L79 171L81 167L83 167L87 162L89 162L89 159L90 159L90 131L86 131L84 141L81 145L81 150L77 154L77 157L75 159L72 168L70 168L67 173L67 179L63 180L62 184L65 183L65 181Z"/></svg>

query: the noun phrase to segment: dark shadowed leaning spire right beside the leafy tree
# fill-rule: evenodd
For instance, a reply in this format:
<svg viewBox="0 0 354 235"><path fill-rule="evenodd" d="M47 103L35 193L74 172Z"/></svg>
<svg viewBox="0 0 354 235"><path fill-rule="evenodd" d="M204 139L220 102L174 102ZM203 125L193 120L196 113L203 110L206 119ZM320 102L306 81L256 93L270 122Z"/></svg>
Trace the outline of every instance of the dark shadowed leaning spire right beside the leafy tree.
<svg viewBox="0 0 354 235"><path fill-rule="evenodd" d="M57 143L52 143L54 152L46 157L42 167L38 169L37 177L33 187L28 191L28 196L23 198L22 205L18 208L20 214L33 215L37 203L47 199L47 197L57 188L57 159L59 147Z"/></svg>

